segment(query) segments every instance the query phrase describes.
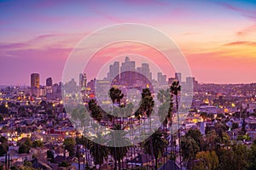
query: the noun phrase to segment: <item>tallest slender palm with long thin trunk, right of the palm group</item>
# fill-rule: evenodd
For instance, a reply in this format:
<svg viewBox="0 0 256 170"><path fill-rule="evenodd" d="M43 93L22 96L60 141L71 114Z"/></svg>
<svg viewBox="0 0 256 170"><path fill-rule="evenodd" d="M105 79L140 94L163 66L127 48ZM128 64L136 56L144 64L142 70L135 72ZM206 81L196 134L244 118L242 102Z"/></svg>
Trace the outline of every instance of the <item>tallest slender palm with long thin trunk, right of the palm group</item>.
<svg viewBox="0 0 256 170"><path fill-rule="evenodd" d="M178 138L178 144L179 144L179 163L180 167L182 168L182 152L181 152L181 139L180 139L180 129L179 129L179 114L178 114L178 99L177 95L181 91L181 87L179 85L179 82L172 82L172 86L170 87L170 92L172 95L175 95L175 101L176 101L176 111L177 111L177 138Z"/></svg>

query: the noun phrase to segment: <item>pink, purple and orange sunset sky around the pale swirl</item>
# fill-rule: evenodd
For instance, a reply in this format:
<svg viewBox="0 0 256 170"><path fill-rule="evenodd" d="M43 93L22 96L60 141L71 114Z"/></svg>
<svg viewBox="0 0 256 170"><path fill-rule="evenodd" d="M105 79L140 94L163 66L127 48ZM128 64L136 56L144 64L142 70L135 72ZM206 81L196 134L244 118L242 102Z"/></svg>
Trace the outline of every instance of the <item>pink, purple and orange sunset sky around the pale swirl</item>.
<svg viewBox="0 0 256 170"><path fill-rule="evenodd" d="M172 38L199 82L256 82L255 0L7 0L0 1L0 85L29 85L32 72L40 74L42 85L46 77L60 82L82 38L122 23L153 26ZM113 56L114 50L120 49L105 51ZM139 50L147 57L145 48ZM99 65L97 59L91 65Z"/></svg>

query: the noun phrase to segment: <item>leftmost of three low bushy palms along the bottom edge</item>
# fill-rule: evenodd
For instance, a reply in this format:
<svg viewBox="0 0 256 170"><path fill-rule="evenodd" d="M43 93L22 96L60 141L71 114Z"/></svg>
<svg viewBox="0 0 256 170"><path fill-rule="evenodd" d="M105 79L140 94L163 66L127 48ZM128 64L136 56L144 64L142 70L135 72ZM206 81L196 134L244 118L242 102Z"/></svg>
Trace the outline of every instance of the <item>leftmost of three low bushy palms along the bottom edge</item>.
<svg viewBox="0 0 256 170"><path fill-rule="evenodd" d="M94 141L89 142L90 154L94 158L94 162L102 167L104 160L108 159L108 147L106 137L102 136L102 133L96 133L96 136L92 138Z"/></svg>

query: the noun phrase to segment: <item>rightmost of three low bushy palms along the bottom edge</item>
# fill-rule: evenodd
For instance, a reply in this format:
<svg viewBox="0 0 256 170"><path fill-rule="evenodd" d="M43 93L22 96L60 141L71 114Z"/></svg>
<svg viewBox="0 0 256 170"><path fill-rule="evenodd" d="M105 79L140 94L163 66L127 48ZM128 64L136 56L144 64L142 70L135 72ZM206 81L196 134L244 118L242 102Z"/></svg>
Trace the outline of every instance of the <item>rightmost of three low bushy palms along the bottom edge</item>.
<svg viewBox="0 0 256 170"><path fill-rule="evenodd" d="M160 130L154 132L148 139L143 142L143 148L148 155L154 156L154 168L157 170L158 157L163 155L166 147L166 139L164 133Z"/></svg>

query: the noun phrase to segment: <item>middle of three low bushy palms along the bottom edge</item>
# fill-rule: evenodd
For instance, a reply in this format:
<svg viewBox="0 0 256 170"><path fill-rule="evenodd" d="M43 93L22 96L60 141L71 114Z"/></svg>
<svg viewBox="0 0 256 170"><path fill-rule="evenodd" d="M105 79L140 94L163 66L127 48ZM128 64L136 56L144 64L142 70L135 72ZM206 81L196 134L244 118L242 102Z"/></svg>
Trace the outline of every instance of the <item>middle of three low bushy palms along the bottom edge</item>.
<svg viewBox="0 0 256 170"><path fill-rule="evenodd" d="M126 156L128 150L130 149L131 142L128 138L125 138L125 131L121 131L121 126L119 124L115 125L113 130L119 130L119 133L112 131L109 133L108 145L113 145L108 147L110 155L114 159L114 169L117 169L117 162L119 162L119 169L121 169L121 160ZM124 146L117 146L115 141L119 141L119 144Z"/></svg>

